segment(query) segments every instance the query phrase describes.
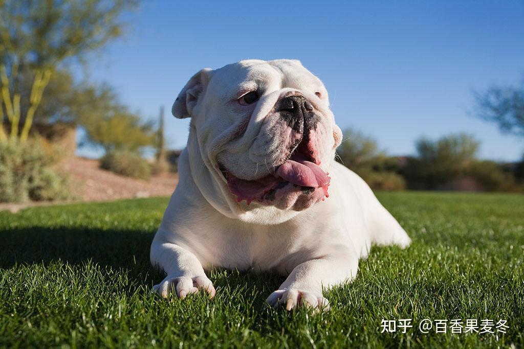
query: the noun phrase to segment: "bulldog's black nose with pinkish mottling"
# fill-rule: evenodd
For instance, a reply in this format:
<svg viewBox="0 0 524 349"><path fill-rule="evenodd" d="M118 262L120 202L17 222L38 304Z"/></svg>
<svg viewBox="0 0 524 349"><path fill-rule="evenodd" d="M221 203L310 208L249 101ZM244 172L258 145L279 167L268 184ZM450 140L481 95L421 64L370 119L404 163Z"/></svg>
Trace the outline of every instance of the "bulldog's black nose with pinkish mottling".
<svg viewBox="0 0 524 349"><path fill-rule="evenodd" d="M286 120L289 127L293 130L309 134L309 130L316 127L316 116L313 106L304 96L289 96L281 98L275 110L280 112L280 116Z"/></svg>

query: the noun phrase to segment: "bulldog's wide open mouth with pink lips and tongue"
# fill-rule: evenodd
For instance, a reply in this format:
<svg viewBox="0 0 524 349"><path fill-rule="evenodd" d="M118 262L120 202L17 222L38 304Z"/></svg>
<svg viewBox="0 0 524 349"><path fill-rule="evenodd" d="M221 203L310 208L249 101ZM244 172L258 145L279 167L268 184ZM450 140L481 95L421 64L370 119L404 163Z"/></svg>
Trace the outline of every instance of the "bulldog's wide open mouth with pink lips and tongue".
<svg viewBox="0 0 524 349"><path fill-rule="evenodd" d="M236 201L246 200L247 205L252 201L271 204L278 196L291 194L294 194L296 199L298 195L309 195L311 199L316 199L315 202L329 197L328 187L331 178L329 173L320 168L320 161L313 157L315 151L311 142L304 137L292 148L294 149L285 162L275 166L270 175L258 179L246 180L235 177L224 165L219 164L227 186L236 196ZM311 203L306 206L310 205Z"/></svg>

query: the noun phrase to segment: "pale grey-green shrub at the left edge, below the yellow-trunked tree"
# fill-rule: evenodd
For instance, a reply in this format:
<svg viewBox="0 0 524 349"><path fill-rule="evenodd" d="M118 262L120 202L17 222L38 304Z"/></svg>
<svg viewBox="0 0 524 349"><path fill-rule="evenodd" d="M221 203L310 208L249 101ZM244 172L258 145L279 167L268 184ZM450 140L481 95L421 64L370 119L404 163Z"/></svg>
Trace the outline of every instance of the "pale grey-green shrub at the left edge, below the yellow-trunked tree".
<svg viewBox="0 0 524 349"><path fill-rule="evenodd" d="M72 198L68 179L52 170L54 162L39 140L0 143L0 202Z"/></svg>

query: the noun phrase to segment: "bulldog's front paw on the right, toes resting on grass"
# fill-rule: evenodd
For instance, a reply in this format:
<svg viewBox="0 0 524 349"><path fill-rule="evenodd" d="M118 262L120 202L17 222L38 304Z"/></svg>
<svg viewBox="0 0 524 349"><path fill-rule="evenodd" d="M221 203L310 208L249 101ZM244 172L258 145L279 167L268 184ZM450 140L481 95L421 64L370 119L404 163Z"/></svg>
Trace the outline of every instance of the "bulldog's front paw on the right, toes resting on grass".
<svg viewBox="0 0 524 349"><path fill-rule="evenodd" d="M303 291L297 288L276 290L266 299L271 307L285 306L286 310L298 307L312 308L316 310L330 310L329 301L322 293Z"/></svg>

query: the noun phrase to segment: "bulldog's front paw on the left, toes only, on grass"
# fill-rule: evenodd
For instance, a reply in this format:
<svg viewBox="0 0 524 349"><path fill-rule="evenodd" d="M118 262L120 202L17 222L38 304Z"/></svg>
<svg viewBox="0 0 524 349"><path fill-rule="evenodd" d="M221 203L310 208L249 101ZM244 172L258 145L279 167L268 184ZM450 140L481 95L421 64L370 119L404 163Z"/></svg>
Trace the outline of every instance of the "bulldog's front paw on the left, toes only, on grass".
<svg viewBox="0 0 524 349"><path fill-rule="evenodd" d="M153 286L153 291L163 298L167 298L171 293L176 292L177 297L182 299L187 295L195 294L199 290L208 292L209 297L215 296L215 288L208 277L204 276L167 276L158 285Z"/></svg>

